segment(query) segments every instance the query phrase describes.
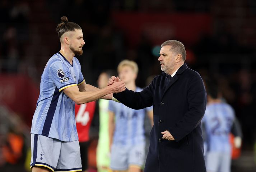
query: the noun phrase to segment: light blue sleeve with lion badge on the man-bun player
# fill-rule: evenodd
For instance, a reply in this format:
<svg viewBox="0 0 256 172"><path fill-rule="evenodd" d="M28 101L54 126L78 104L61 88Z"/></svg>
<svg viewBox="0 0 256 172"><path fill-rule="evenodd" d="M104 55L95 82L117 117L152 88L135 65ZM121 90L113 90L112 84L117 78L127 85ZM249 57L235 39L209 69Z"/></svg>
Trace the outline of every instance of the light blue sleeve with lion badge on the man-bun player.
<svg viewBox="0 0 256 172"><path fill-rule="evenodd" d="M49 69L49 75L59 89L59 92L65 88L77 85L71 77L68 67L62 62L52 64Z"/></svg>

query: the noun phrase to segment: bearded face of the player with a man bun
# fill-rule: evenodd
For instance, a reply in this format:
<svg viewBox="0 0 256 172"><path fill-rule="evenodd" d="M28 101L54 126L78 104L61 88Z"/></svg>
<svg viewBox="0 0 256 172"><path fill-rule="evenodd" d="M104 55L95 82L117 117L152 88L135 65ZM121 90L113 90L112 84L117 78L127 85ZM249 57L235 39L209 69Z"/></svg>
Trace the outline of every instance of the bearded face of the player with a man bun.
<svg viewBox="0 0 256 172"><path fill-rule="evenodd" d="M70 44L69 48L73 51L73 53L77 55L83 54L83 46L85 42L83 39L83 31L80 29L75 29L70 36Z"/></svg>

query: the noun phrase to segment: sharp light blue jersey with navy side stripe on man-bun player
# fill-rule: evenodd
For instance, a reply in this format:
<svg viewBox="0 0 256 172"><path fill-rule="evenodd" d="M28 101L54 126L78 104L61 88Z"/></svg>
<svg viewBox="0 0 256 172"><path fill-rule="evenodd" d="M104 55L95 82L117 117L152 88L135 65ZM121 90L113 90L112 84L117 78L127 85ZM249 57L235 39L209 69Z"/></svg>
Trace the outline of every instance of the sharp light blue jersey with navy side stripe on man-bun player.
<svg viewBox="0 0 256 172"><path fill-rule="evenodd" d="M40 95L33 116L31 133L60 141L78 140L75 122L75 102L63 89L85 82L81 66L74 57L70 64L58 52L47 62L40 84Z"/></svg>

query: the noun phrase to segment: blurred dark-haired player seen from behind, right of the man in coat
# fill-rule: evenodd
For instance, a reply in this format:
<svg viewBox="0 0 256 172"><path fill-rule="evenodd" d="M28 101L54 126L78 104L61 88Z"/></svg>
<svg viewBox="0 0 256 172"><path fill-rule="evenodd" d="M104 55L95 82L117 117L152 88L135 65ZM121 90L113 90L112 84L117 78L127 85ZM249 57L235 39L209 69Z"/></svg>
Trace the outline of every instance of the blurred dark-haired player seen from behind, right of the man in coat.
<svg viewBox="0 0 256 172"><path fill-rule="evenodd" d="M219 96L217 83L205 80L208 103L202 119L205 163L207 172L231 171L230 133L233 131L234 146L241 147L242 132L234 109Z"/></svg>

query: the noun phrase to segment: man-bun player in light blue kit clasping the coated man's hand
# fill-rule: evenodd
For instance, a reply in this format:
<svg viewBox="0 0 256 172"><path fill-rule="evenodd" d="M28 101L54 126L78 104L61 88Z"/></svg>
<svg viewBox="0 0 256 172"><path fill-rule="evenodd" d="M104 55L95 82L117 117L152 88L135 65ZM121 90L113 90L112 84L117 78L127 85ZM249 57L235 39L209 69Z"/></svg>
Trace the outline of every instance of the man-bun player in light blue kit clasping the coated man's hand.
<svg viewBox="0 0 256 172"><path fill-rule="evenodd" d="M82 171L75 103L99 98L113 99L125 90L124 82L98 89L85 84L76 55L83 54L83 31L66 16L56 29L61 49L47 62L31 128L31 168L33 172ZM114 99L115 100L115 99Z"/></svg>

